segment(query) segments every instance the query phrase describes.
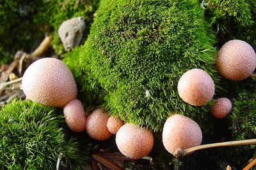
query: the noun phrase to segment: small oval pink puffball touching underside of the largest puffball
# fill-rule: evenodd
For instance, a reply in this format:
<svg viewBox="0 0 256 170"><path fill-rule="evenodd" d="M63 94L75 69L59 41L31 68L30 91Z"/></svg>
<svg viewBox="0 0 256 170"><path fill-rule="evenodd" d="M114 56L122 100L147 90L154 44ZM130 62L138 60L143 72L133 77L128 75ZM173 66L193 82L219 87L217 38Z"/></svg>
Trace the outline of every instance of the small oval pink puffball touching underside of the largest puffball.
<svg viewBox="0 0 256 170"><path fill-rule="evenodd" d="M66 104L63 109L66 123L71 131L83 132L86 127L86 115L83 105L78 99Z"/></svg>

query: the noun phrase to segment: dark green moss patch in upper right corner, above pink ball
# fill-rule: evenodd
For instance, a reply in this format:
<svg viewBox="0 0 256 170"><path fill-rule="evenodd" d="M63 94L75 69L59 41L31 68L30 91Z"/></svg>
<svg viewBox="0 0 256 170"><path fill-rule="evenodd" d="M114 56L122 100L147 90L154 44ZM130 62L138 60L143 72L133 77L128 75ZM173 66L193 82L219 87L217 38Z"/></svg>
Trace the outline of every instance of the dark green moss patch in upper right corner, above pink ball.
<svg viewBox="0 0 256 170"><path fill-rule="evenodd" d="M256 2L254 0L207 0L205 17L218 34L219 45L241 39L256 46Z"/></svg>

